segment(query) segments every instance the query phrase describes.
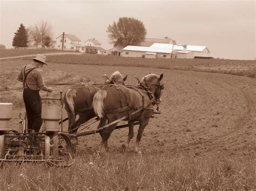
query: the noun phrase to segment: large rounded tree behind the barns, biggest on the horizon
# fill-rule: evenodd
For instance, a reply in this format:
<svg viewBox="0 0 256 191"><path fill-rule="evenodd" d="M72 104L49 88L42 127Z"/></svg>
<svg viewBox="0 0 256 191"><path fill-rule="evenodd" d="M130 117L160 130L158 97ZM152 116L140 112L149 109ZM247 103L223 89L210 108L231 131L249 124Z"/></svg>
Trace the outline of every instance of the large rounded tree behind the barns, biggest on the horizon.
<svg viewBox="0 0 256 191"><path fill-rule="evenodd" d="M114 47L139 45L145 40L147 34L144 24L131 17L120 17L117 23L113 22L107 27L106 32L109 33L109 43Z"/></svg>

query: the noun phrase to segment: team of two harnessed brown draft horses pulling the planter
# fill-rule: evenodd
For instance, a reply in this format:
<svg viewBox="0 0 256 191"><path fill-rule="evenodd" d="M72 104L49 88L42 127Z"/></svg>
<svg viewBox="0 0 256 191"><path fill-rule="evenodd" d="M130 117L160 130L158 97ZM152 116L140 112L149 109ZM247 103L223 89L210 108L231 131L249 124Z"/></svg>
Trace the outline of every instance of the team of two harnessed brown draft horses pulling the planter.
<svg viewBox="0 0 256 191"><path fill-rule="evenodd" d="M99 153L107 151L107 140L118 122L128 121L129 134L122 145L125 150L133 137L134 122L139 122L134 152L141 153L139 142L153 114L153 106L160 102L163 74L148 74L135 86L125 86L126 80L118 71L114 72L103 86L86 84L68 90L64 95L65 109L69 117L69 131L77 132L79 125L98 116L98 129L102 142ZM76 115L79 116L75 121Z"/></svg>

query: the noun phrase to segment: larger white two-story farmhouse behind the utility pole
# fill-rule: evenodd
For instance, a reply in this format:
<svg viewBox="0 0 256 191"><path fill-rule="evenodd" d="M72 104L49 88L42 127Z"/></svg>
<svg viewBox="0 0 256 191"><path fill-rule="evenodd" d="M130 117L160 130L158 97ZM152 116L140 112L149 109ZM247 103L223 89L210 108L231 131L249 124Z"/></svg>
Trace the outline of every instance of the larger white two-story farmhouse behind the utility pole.
<svg viewBox="0 0 256 191"><path fill-rule="evenodd" d="M85 47L81 45L81 40L73 34L65 34L56 38L55 48L66 51L85 52Z"/></svg>

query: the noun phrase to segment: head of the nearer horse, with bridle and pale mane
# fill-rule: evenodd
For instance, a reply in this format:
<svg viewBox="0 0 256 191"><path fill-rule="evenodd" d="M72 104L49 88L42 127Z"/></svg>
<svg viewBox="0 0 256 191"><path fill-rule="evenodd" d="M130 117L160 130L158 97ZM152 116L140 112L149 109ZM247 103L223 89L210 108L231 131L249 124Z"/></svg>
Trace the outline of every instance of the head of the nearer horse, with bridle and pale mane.
<svg viewBox="0 0 256 191"><path fill-rule="evenodd" d="M142 83L150 88L150 91L152 91L154 97L156 97L156 100L160 99L161 90L164 89L164 83L161 82L163 77L164 74L161 74L160 76L157 74L148 74L142 78Z"/></svg>

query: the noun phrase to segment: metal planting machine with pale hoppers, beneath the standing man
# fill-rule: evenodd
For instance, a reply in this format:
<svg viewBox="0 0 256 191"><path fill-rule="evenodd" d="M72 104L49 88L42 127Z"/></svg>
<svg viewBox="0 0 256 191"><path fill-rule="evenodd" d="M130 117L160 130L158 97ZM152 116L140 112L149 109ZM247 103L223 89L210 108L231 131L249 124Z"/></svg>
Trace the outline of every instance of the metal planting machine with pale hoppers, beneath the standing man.
<svg viewBox="0 0 256 191"><path fill-rule="evenodd" d="M4 162L45 162L55 166L73 163L70 137L63 133L62 94L60 98L43 98L42 119L45 129L37 133L26 129L26 116L20 114L19 131L10 128L12 103L0 103L0 165ZM57 104L49 101L57 101ZM60 129L60 130L59 130Z"/></svg>

